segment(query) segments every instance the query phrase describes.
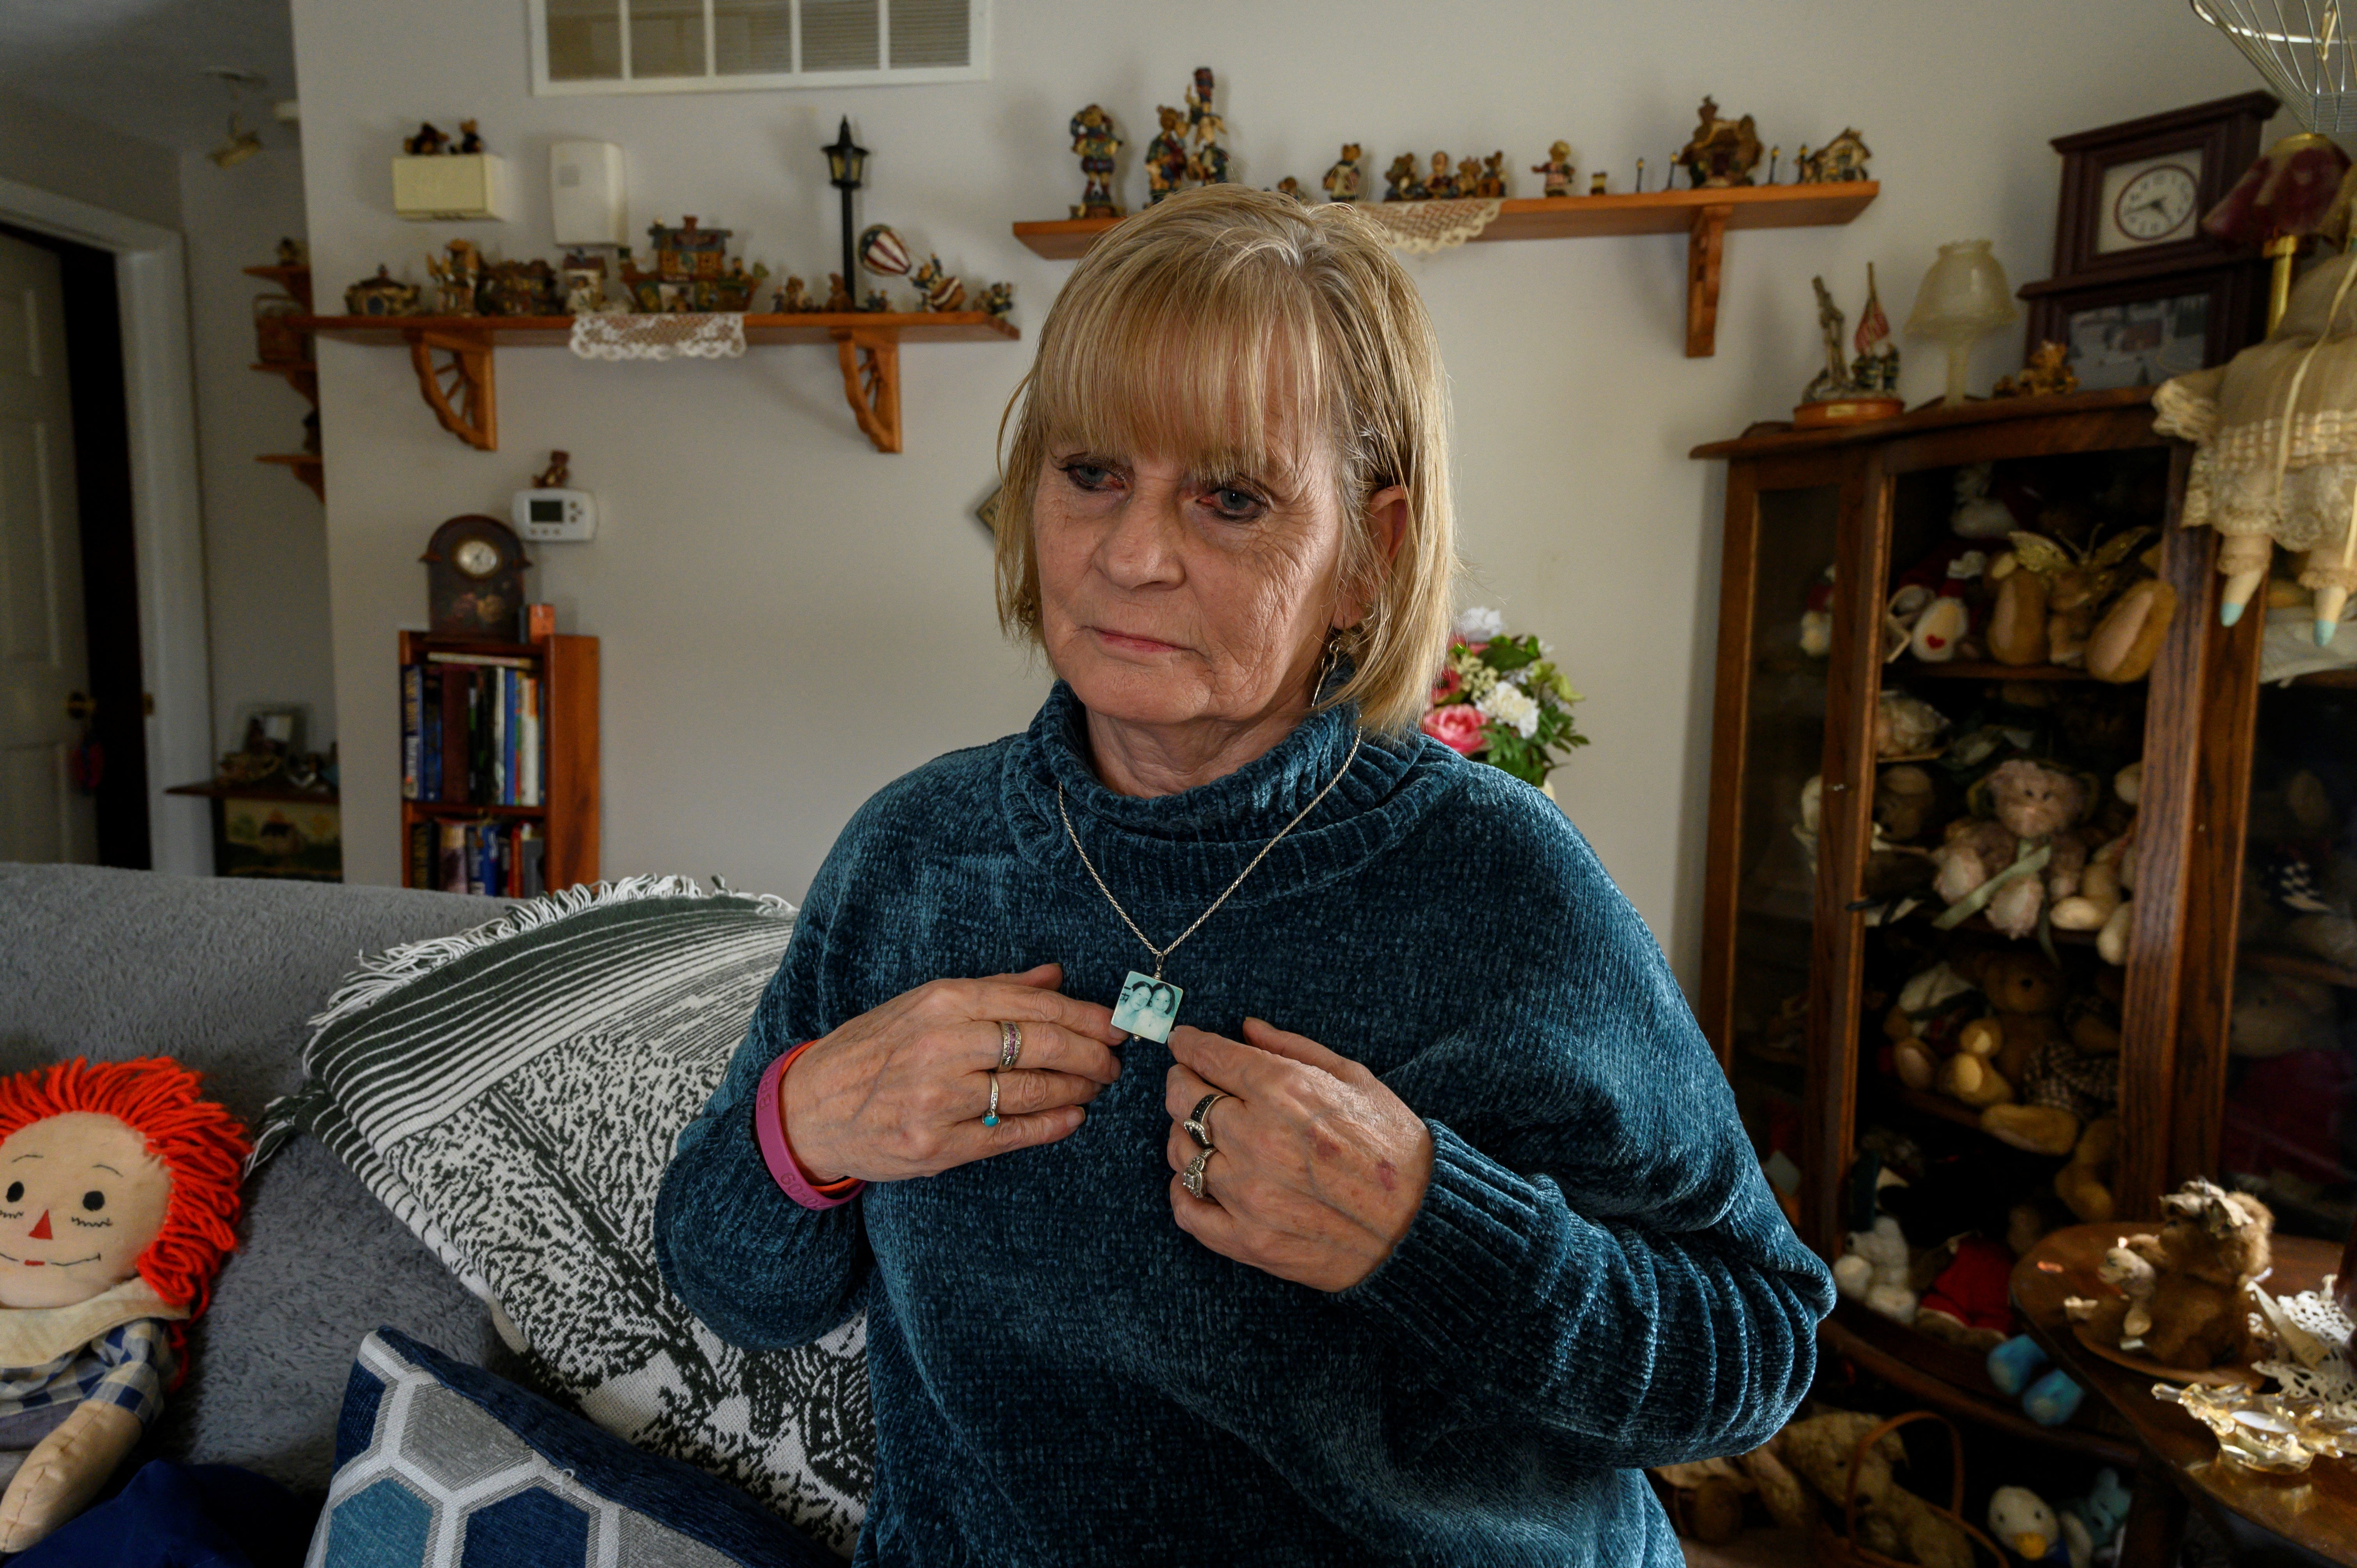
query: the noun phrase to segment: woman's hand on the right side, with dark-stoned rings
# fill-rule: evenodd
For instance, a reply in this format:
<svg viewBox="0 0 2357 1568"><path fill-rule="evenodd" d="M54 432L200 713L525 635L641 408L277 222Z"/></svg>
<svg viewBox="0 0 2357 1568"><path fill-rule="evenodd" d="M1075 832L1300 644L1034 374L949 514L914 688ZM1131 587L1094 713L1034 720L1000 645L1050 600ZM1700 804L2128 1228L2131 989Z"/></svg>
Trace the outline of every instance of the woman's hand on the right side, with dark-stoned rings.
<svg viewBox="0 0 2357 1568"><path fill-rule="evenodd" d="M1244 1019L1244 1040L1171 1030L1162 1103L1169 1162L1200 1151L1183 1127L1214 1089L1202 1198L1171 1177L1178 1228L1240 1264L1315 1290L1348 1290L1407 1236L1433 1179L1424 1118L1365 1066Z"/></svg>

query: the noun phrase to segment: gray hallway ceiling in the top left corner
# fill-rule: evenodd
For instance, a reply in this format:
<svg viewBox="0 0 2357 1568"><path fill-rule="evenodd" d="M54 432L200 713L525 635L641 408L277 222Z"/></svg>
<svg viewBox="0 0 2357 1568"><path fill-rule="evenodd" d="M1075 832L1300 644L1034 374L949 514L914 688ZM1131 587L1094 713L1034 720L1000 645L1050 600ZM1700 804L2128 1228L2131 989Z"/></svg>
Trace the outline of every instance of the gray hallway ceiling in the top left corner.
<svg viewBox="0 0 2357 1568"><path fill-rule="evenodd" d="M269 85L231 99L207 66ZM288 146L292 127L271 120L271 101L295 97L288 0L0 0L0 94L174 151L219 146L236 106L266 144Z"/></svg>

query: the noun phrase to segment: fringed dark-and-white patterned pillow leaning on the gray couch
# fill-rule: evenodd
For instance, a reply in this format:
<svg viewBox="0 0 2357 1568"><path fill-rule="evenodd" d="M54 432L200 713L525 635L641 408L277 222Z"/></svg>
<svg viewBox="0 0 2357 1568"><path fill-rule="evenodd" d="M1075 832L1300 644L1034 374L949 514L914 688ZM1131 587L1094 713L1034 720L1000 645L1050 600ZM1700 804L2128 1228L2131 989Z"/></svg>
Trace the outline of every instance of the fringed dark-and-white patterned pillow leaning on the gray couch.
<svg viewBox="0 0 2357 1568"><path fill-rule="evenodd" d="M290 1129L328 1144L552 1394L849 1554L874 1485L865 1323L721 1344L655 1271L655 1186L794 929L783 898L641 877L394 948L318 1019Z"/></svg>

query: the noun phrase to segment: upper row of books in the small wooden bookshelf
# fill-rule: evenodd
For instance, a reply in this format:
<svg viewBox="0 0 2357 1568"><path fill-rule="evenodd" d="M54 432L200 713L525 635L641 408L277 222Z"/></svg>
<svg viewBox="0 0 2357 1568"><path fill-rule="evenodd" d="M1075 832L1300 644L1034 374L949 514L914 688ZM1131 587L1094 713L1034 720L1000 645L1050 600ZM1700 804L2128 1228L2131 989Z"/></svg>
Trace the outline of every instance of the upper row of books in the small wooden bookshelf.
<svg viewBox="0 0 2357 1568"><path fill-rule="evenodd" d="M528 658L427 653L401 667L401 797L540 806L540 674Z"/></svg>

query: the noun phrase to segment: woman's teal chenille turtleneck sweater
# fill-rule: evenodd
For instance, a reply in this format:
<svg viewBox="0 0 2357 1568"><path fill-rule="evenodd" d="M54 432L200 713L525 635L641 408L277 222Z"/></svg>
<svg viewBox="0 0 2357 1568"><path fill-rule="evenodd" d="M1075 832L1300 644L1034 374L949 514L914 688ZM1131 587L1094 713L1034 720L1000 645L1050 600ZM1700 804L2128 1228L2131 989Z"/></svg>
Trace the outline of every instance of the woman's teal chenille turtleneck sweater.
<svg viewBox="0 0 2357 1568"><path fill-rule="evenodd" d="M1339 1294L1169 1212L1162 1078L1077 1134L804 1210L754 1144L785 1049L940 976L1153 962L1056 818L1167 938L1341 766L1348 712L1197 790L1089 771L1056 686L1023 736L870 799L811 887L655 1210L672 1290L773 1349L867 1313L877 1493L856 1563L1678 1563L1638 1474L1772 1434L1834 1299L1761 1179L1636 910L1537 790L1369 736L1171 955L1181 1021L1247 1014L1365 1061L1433 1134L1407 1238Z"/></svg>

